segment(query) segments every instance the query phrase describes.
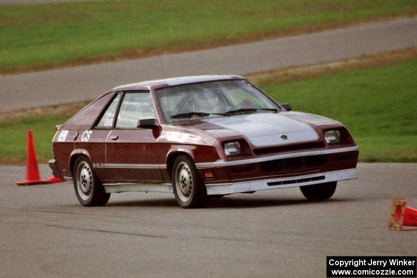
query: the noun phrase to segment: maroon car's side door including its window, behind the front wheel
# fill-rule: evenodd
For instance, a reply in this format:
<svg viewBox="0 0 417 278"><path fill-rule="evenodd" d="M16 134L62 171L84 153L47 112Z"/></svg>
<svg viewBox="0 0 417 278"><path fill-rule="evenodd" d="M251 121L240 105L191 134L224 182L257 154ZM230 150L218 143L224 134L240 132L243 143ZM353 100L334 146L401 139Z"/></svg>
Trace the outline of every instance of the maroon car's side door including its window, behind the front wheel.
<svg viewBox="0 0 417 278"><path fill-rule="evenodd" d="M157 138L150 128L138 128L139 120L155 119L149 91L126 92L116 123L106 140L106 171L111 182L162 182Z"/></svg>

